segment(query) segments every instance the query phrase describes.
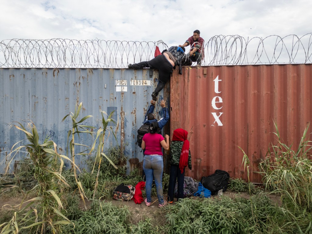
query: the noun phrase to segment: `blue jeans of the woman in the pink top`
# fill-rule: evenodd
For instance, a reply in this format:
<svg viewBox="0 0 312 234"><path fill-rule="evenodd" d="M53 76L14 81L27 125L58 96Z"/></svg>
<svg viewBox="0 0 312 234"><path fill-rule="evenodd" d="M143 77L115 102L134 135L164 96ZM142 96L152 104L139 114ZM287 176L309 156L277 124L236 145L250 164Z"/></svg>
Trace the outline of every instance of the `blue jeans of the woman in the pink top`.
<svg viewBox="0 0 312 234"><path fill-rule="evenodd" d="M145 190L147 202L152 202L151 192L154 178L158 202L159 204L163 204L163 156L145 155L143 159L143 170L146 176Z"/></svg>

